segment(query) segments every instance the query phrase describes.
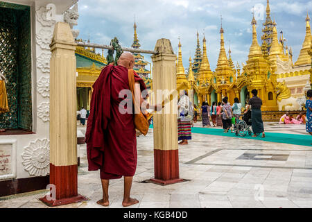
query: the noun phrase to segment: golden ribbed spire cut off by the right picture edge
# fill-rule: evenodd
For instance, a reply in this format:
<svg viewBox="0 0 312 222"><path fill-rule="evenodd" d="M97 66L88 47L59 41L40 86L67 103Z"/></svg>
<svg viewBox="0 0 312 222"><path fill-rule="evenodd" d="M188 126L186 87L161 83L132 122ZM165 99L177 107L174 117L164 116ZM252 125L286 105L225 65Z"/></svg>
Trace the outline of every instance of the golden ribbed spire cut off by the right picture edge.
<svg viewBox="0 0 312 222"><path fill-rule="evenodd" d="M309 56L309 50L311 49L311 26L309 14L306 14L306 37L304 38L304 43L302 44L302 49L298 57L295 66L300 65L311 65L311 56Z"/></svg>

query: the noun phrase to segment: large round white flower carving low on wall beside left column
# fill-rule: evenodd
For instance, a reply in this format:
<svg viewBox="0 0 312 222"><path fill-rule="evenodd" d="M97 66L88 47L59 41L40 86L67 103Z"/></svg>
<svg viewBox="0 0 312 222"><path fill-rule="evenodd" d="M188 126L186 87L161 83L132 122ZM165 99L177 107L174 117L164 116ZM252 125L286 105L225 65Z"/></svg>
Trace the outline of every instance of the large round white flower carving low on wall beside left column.
<svg viewBox="0 0 312 222"><path fill-rule="evenodd" d="M24 149L21 155L29 175L46 176L50 171L50 143L48 139L37 139Z"/></svg>

